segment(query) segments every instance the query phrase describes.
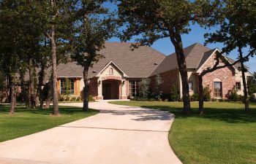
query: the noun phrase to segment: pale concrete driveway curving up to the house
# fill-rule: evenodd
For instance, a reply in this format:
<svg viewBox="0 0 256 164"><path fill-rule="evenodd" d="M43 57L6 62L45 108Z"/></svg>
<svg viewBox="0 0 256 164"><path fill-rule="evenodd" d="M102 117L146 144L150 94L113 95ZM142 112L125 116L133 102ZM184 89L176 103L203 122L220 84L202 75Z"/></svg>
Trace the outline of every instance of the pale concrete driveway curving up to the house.
<svg viewBox="0 0 256 164"><path fill-rule="evenodd" d="M60 104L82 106L82 104ZM173 115L154 109L89 104L100 113L0 143L1 164L181 163L167 139Z"/></svg>

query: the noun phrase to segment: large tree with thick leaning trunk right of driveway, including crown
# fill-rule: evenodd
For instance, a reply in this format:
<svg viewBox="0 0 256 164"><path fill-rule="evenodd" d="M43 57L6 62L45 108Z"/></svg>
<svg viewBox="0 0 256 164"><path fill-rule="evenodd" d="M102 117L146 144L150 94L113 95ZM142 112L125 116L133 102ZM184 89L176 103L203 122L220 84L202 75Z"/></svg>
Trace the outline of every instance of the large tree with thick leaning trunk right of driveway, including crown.
<svg viewBox="0 0 256 164"><path fill-rule="evenodd" d="M127 41L132 36L140 45L151 45L157 39L169 38L175 47L178 69L181 74L184 113L189 114L189 85L187 64L183 50L182 34L189 34L191 23L203 23L203 18L211 17L218 1L187 1L187 0L120 0L118 15L124 30L121 40Z"/></svg>

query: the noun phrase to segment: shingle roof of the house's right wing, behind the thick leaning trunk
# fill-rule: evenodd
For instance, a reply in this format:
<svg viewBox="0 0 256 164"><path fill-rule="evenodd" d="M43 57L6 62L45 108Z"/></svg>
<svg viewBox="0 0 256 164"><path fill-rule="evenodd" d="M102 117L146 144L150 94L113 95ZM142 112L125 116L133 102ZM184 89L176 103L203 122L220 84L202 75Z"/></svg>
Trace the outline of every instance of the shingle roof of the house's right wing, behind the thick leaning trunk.
<svg viewBox="0 0 256 164"><path fill-rule="evenodd" d="M184 54L186 58L187 68L188 69L197 69L200 64L201 60L206 60L210 53L213 50L209 49L208 47L203 46L202 44L195 43L190 45L189 47L184 48ZM155 74L159 74L165 71L170 71L173 69L178 69L178 63L176 58L176 53L168 55L162 63L159 64L157 69L151 74L154 76Z"/></svg>

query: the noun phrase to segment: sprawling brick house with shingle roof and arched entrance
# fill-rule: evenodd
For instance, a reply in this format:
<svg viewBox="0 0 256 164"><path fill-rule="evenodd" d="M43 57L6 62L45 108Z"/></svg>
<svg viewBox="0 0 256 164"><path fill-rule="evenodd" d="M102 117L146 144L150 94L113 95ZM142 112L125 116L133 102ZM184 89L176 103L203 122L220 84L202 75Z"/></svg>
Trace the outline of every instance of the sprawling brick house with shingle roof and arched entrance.
<svg viewBox="0 0 256 164"><path fill-rule="evenodd" d="M143 78L151 78L159 74L162 77L163 93L170 93L172 85L176 85L182 97L181 76L178 72L176 54L165 56L151 47L139 47L131 50L130 43L107 42L101 54L105 58L89 69L90 95L96 100L127 99L138 95L138 82ZM189 78L189 93L198 92L197 74L214 66L214 55L218 49L211 50L202 44L192 44L184 48ZM223 60L233 62L225 57ZM221 61L220 64L223 64ZM63 94L65 79L69 78L70 93L79 96L83 91L83 67L75 62L62 63L58 66L58 91ZM249 72L246 76L250 76ZM153 82L154 83L154 82ZM154 87L154 85L151 85ZM203 86L209 86L212 98L225 98L228 91L236 87L238 94L243 94L243 84L239 64L206 74Z"/></svg>

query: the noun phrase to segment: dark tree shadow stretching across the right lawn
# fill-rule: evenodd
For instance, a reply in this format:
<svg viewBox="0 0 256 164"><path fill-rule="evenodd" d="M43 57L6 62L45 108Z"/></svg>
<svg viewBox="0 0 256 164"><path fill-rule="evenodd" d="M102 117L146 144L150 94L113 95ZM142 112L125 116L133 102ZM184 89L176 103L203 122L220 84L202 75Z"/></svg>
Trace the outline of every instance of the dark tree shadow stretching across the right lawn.
<svg viewBox="0 0 256 164"><path fill-rule="evenodd" d="M182 113L182 107L172 107L172 106L141 106L145 108L151 109L160 109L163 111L167 111L176 115L176 118L184 118L184 117L197 117L204 118L210 120L219 120L225 121L229 123L239 123L239 122L256 122L256 109L250 109L250 112L244 112L244 109L219 109L219 108L209 108L205 107L205 114L199 115L197 114L198 109L192 108L192 114L186 115Z"/></svg>

